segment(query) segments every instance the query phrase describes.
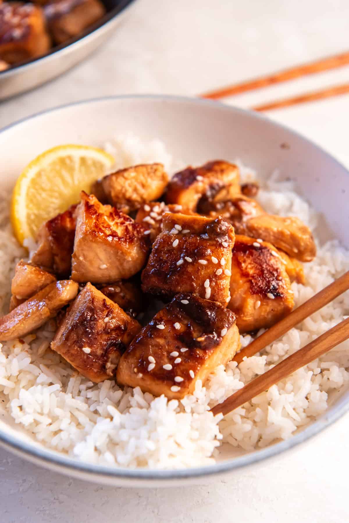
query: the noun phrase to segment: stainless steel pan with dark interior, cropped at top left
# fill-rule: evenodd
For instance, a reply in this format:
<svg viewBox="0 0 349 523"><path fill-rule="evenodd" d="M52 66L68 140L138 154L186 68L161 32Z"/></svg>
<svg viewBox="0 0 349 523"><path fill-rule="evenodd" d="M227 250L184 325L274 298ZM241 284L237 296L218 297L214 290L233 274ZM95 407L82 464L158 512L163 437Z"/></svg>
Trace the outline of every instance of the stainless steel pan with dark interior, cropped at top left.
<svg viewBox="0 0 349 523"><path fill-rule="evenodd" d="M0 72L0 100L23 93L64 73L84 60L123 19L135 0L106 0L106 15L78 38L55 46L48 54Z"/></svg>

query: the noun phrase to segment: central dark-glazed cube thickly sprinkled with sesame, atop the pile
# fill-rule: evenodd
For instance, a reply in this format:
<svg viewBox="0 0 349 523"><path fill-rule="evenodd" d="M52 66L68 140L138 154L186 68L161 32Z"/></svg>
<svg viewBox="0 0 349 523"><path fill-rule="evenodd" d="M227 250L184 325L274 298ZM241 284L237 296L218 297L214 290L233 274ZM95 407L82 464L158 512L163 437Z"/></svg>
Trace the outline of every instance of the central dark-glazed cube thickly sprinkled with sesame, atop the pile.
<svg viewBox="0 0 349 523"><path fill-rule="evenodd" d="M178 292L229 301L234 230L221 218L164 214L163 231L142 272L142 290L164 301Z"/></svg>

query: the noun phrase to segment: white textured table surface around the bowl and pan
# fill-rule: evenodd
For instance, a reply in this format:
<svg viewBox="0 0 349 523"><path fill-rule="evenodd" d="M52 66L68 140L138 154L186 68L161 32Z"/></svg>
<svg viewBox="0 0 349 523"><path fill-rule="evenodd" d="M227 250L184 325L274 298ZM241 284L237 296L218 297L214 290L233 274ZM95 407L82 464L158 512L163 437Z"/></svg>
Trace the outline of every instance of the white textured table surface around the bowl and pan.
<svg viewBox="0 0 349 523"><path fill-rule="evenodd" d="M140 0L91 58L0 104L0 127L71 101L195 95L347 50L347 0ZM241 107L347 82L349 67L229 100ZM349 96L270 112L349 166ZM35 140L35 137L33 137ZM18 144L20 152L20 144ZM0 449L2 523L348 521L349 415L296 452L210 486L122 490L54 474Z"/></svg>

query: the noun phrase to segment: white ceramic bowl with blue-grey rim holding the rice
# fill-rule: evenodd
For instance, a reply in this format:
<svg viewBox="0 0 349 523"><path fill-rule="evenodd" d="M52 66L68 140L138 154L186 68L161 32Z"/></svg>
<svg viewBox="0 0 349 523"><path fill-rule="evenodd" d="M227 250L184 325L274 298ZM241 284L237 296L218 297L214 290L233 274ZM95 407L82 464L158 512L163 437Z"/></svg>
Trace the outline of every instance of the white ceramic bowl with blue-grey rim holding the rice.
<svg viewBox="0 0 349 523"><path fill-rule="evenodd" d="M21 169L49 147L62 143L102 145L115 134L128 132L144 141L160 138L175 158L188 164L239 157L257 169L261 178L278 168L282 179L295 180L299 192L324 214L333 235L349 248L347 170L319 147L277 123L216 102L165 96L111 97L20 121L0 132L0 188L12 187ZM0 416L0 442L37 464L90 481L118 486L184 485L255 467L257 462L276 457L319 433L348 408L346 390L332 398L323 416L287 441L234 459L226 452L215 465L176 471L108 468L69 459L31 440L6 414Z"/></svg>

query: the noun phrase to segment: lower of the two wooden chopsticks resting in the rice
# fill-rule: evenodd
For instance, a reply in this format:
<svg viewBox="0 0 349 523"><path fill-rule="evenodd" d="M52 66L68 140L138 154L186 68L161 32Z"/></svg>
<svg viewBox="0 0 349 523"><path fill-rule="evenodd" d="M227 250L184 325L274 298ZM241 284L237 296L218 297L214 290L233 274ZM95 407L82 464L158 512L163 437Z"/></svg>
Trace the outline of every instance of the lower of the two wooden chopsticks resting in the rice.
<svg viewBox="0 0 349 523"><path fill-rule="evenodd" d="M220 412L225 416L235 408L240 407L253 397L269 389L278 381L286 378L292 372L307 365L316 358L327 353L336 345L349 338L349 318L332 327L305 347L297 350L296 353L288 356L283 361L275 365L258 378L254 379L242 389L229 396L225 401L211 408L211 412L216 415Z"/></svg>

